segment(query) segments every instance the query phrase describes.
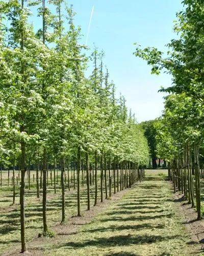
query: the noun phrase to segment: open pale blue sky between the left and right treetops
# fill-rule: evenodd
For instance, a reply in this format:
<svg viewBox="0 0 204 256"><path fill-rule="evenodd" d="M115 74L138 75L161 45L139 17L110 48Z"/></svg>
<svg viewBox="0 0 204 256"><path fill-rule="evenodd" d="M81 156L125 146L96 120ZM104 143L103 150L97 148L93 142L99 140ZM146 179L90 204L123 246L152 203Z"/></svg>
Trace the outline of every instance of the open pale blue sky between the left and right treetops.
<svg viewBox="0 0 204 256"><path fill-rule="evenodd" d="M126 98L128 108L144 121L159 117L163 96L158 90L171 85L167 74L151 75L146 62L133 55L134 42L166 52L165 44L176 35L173 20L183 9L181 0L71 0L77 12L75 24L81 25L86 41L91 9L94 14L88 46L106 53L104 62L115 82L117 94ZM92 65L90 63L90 65Z"/></svg>

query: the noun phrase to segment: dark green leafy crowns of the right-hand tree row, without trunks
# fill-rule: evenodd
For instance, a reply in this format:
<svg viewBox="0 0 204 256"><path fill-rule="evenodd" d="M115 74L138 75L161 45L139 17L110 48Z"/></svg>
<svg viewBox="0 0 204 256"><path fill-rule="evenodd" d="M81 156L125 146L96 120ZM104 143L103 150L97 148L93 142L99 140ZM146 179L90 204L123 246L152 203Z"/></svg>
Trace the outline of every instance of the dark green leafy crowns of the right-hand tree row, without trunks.
<svg viewBox="0 0 204 256"><path fill-rule="evenodd" d="M168 161L181 156L187 144L203 144L203 3L185 0L183 4L174 26L178 36L167 44L167 56L154 47L138 45L134 53L147 61L152 73L164 71L172 76L172 86L161 89L170 95L156 123L157 153Z"/></svg>

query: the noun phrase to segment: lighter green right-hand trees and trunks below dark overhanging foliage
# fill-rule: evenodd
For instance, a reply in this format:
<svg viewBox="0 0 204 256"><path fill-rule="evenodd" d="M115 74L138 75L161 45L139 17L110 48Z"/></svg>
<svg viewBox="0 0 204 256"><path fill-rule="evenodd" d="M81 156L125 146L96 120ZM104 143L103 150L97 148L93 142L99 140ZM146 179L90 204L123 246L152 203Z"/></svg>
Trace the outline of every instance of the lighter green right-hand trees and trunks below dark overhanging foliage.
<svg viewBox="0 0 204 256"><path fill-rule="evenodd" d="M157 152L168 159L168 176L173 182L174 193L176 190L181 191L189 204L196 206L199 220L200 178L203 178L203 165L200 166L199 163L200 158L202 160L202 139L191 126L192 123L186 121L188 116L185 116L184 102L179 97L167 96L163 116L155 122ZM182 123L186 122L184 126L180 123L182 115Z"/></svg>

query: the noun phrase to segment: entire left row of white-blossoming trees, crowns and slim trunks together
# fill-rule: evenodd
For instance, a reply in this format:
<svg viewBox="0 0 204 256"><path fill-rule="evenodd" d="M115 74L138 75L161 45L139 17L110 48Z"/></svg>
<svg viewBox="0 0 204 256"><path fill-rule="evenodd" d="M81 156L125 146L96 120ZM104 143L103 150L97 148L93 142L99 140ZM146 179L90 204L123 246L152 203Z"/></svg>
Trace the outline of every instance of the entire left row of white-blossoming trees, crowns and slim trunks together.
<svg viewBox="0 0 204 256"><path fill-rule="evenodd" d="M52 13L46 5L56 11ZM36 13L36 10L38 18L32 24L31 11ZM43 235L46 236L49 232L48 164L53 165L54 179L56 165L60 165L63 223L65 169L69 172L71 163L77 172L78 216L81 216L80 185L84 168L90 209L90 166L92 173L94 170L96 204L98 170L102 202L104 183L107 198L107 178L111 178L107 170L112 169L115 193L119 184L123 189L141 177L141 166L148 162L143 131L134 115L127 115L124 98L115 97L109 72L107 69L104 72L103 53L94 50L93 72L86 77L86 46L80 44L80 27L74 26L73 17L72 8L61 0L0 2L0 164L1 169L13 166L13 203L15 168L20 168L22 252L26 250L25 174L28 173L30 180L30 166L35 165L36 169L37 197L39 186L43 189ZM41 28L35 24L39 19Z"/></svg>

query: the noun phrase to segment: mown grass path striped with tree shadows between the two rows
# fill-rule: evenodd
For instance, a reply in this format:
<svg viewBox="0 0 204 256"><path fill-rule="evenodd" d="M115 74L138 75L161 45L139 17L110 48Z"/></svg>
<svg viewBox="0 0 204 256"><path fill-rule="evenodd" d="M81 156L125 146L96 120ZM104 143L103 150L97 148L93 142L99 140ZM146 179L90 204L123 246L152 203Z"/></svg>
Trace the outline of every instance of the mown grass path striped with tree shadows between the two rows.
<svg viewBox="0 0 204 256"><path fill-rule="evenodd" d="M170 184L146 180L77 233L43 245L45 255L195 255Z"/></svg>

